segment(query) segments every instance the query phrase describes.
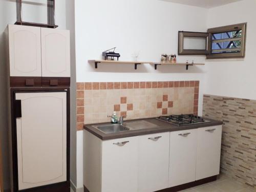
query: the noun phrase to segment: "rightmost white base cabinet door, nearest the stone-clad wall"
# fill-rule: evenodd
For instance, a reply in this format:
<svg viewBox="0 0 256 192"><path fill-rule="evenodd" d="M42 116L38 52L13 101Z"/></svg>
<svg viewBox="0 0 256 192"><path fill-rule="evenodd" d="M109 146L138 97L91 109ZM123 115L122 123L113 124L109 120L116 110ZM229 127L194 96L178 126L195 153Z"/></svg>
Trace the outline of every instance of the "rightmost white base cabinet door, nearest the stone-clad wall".
<svg viewBox="0 0 256 192"><path fill-rule="evenodd" d="M219 175L222 125L198 129L196 180Z"/></svg>

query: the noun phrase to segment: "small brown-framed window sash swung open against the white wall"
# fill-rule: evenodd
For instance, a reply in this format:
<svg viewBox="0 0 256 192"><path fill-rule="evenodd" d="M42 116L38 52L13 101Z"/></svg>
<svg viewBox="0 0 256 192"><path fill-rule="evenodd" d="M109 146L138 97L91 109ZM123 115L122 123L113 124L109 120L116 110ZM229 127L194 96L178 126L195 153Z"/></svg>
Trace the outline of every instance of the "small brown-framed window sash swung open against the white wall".
<svg viewBox="0 0 256 192"><path fill-rule="evenodd" d="M179 31L179 55L208 54L209 33Z"/></svg>

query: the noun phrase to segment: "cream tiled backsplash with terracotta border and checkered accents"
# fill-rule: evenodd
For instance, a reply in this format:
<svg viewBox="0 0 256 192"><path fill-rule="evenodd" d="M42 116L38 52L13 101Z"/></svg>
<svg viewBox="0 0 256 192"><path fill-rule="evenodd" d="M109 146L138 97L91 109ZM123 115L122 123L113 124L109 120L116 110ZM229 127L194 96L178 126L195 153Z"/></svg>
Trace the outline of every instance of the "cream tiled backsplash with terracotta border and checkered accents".
<svg viewBox="0 0 256 192"><path fill-rule="evenodd" d="M198 112L199 81L78 82L77 130L109 122L113 111L126 119Z"/></svg>

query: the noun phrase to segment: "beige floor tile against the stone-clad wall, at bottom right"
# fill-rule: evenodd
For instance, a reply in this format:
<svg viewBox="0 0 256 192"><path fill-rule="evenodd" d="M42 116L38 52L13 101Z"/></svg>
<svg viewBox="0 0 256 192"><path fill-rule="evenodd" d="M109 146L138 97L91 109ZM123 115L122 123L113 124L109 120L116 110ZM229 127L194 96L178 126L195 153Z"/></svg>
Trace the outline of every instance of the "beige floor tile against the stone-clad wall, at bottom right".
<svg viewBox="0 0 256 192"><path fill-rule="evenodd" d="M231 179L227 179L218 183L214 183L212 184L212 186L217 187L218 189L221 189L225 192L234 192L234 191L238 191L244 188L247 188L247 186L242 185L240 183L234 182Z"/></svg>

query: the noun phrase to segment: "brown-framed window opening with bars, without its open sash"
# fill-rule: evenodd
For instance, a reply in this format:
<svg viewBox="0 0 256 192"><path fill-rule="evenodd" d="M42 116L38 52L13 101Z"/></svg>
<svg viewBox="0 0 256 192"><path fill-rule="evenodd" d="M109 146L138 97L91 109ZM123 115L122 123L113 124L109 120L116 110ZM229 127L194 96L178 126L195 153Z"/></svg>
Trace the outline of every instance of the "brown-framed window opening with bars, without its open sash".
<svg viewBox="0 0 256 192"><path fill-rule="evenodd" d="M208 59L243 58L245 56L246 23L208 29Z"/></svg>

